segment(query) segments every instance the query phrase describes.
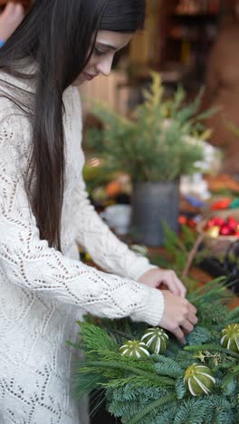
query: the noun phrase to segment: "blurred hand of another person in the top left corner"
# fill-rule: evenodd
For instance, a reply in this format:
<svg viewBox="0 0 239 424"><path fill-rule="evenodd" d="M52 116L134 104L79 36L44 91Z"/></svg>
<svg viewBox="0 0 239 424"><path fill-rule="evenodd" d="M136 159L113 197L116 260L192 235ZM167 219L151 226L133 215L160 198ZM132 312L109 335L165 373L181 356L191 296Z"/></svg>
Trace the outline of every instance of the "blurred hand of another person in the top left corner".
<svg viewBox="0 0 239 424"><path fill-rule="evenodd" d="M14 33L14 30L24 19L24 7L13 2L5 6L0 15L0 40L6 41Z"/></svg>

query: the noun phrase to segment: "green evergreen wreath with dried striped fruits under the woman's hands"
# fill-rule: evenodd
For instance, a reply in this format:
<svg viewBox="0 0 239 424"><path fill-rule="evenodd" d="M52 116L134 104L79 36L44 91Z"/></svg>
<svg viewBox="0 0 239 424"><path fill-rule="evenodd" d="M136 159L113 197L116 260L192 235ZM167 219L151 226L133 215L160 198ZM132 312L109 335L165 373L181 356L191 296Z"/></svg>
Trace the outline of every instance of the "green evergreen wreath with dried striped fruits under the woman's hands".
<svg viewBox="0 0 239 424"><path fill-rule="evenodd" d="M239 307L228 309L227 293L219 278L189 294L198 324L185 347L168 334L163 354L121 354L122 345L141 342L147 324L86 316L74 344L85 353L75 367L76 396L93 390L96 407L106 398L110 413L127 424L237 424ZM225 334L233 337L233 350L224 347Z"/></svg>

